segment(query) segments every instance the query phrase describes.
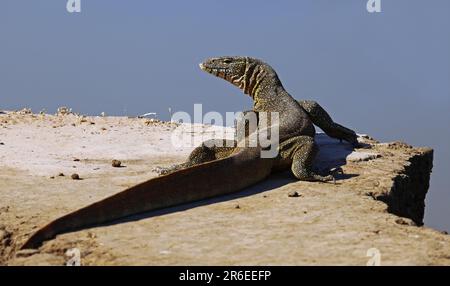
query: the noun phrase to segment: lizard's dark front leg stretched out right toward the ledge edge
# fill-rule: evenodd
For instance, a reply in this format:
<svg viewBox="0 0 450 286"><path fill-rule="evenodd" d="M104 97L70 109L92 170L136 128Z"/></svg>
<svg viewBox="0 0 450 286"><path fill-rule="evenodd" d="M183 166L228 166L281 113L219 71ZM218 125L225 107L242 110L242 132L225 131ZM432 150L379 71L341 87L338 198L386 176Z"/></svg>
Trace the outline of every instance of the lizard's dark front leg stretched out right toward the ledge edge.
<svg viewBox="0 0 450 286"><path fill-rule="evenodd" d="M328 136L345 140L353 146L358 145L356 133L340 124L335 123L330 115L313 100L299 100L298 104L308 113L314 125L320 127Z"/></svg>

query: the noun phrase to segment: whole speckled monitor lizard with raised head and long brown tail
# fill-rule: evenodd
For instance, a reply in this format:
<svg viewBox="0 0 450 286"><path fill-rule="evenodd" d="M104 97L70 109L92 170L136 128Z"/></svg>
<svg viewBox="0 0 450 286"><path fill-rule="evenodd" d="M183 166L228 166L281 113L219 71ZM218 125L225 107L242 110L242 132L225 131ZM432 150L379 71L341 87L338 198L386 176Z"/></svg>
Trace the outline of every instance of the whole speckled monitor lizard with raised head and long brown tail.
<svg viewBox="0 0 450 286"><path fill-rule="evenodd" d="M116 195L60 217L34 233L22 249L37 248L57 234L110 222L126 216L194 202L240 191L258 183L274 171L288 169L299 180L329 181L332 175L313 172L317 153L313 122L331 136L356 142L353 131L332 122L318 105L302 107L283 88L275 71L260 60L248 57L221 57L200 67L238 86L254 101L251 112L279 113L279 155L261 158L261 146L216 147L202 144L186 163L166 171L166 175L133 186ZM309 114L308 112L309 111ZM255 138L257 132L244 138ZM211 142L206 142L211 143Z"/></svg>

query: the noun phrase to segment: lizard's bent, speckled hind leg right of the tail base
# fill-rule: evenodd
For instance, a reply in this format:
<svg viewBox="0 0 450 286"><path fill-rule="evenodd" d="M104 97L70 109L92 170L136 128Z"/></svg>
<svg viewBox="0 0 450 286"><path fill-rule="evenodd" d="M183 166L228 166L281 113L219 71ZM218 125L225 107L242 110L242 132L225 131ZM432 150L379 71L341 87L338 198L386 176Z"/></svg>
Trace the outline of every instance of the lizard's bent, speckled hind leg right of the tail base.
<svg viewBox="0 0 450 286"><path fill-rule="evenodd" d="M297 136L280 144L282 158L291 158L291 171L301 181L327 182L334 181L333 175L322 176L313 171L313 161L319 151L314 138Z"/></svg>

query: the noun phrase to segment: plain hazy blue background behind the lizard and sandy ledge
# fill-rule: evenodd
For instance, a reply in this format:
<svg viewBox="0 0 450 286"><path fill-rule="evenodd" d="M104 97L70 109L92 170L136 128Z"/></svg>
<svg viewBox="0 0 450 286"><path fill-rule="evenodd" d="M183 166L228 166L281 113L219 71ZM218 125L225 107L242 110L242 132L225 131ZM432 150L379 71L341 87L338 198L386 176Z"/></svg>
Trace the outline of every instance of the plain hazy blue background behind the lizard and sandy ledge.
<svg viewBox="0 0 450 286"><path fill-rule="evenodd" d="M85 114L251 108L200 71L210 56L262 58L298 99L380 140L435 148L426 223L450 230L450 1L0 3L0 108Z"/></svg>

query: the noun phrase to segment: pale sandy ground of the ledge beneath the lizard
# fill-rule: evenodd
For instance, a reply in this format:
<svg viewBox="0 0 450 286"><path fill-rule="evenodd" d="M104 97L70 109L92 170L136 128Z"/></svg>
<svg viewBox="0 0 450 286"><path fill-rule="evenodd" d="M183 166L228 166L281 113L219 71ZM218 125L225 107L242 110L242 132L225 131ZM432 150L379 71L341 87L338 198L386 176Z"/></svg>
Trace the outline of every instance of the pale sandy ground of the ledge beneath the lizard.
<svg viewBox="0 0 450 286"><path fill-rule="evenodd" d="M365 149L318 136L324 168L344 164L337 184L298 182L288 173L243 192L133 216L59 235L39 250L18 251L37 228L184 161L177 125L126 117L0 114L0 264L63 265L79 249L82 265L450 265L450 238L387 212L373 199L416 149ZM208 139L220 127L183 126ZM229 132L230 130L226 130ZM230 133L228 133L230 134ZM113 159L123 167L111 166ZM63 173L64 176L59 176ZM82 180L72 180L72 174ZM288 193L296 191L298 197Z"/></svg>

